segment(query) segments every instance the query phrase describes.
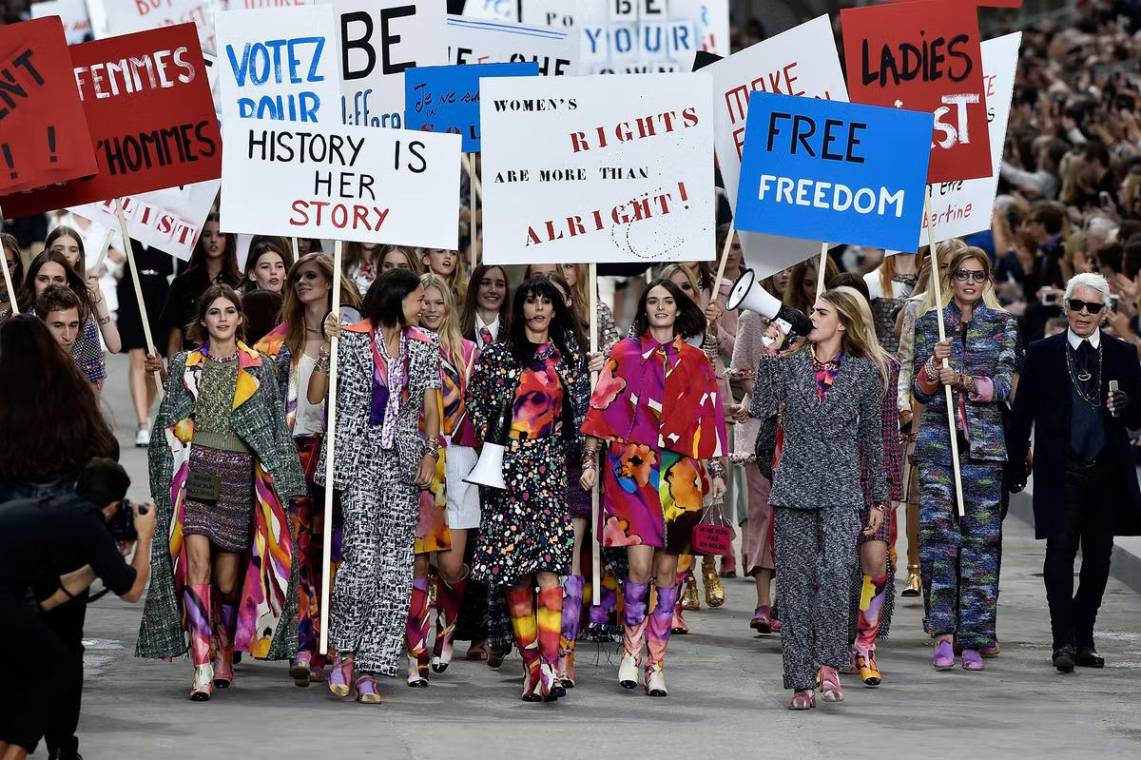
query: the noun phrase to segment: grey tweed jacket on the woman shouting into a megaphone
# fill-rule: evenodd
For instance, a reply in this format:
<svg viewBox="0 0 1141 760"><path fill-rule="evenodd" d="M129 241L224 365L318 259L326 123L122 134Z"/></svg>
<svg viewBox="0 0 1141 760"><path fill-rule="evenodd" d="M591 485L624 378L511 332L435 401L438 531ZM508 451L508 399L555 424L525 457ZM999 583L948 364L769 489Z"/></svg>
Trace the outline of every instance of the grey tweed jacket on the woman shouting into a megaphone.
<svg viewBox="0 0 1141 760"><path fill-rule="evenodd" d="M783 430L769 503L796 509L863 508L863 471L873 500L882 504L888 499L883 394L883 379L868 358L844 354L822 402L808 348L762 356L751 413L767 420L779 412Z"/></svg>

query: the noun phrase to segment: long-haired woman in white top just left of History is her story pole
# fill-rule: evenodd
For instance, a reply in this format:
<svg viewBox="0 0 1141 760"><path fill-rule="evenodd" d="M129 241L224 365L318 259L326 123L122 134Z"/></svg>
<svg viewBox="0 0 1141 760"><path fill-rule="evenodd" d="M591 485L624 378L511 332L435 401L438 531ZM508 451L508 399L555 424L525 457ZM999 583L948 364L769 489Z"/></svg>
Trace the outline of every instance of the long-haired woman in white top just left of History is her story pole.
<svg viewBox="0 0 1141 760"><path fill-rule="evenodd" d="M285 277L285 301L282 323L254 347L267 354L277 369L277 399L285 407L289 426L301 459L306 494L289 504L296 540L297 584L297 656L290 676L297 686L308 686L324 679L325 655L318 650L321 640L321 583L324 540L324 488L315 480L317 454L325 435L324 387L310 397L310 380L329 369L329 322L332 317L333 260L325 253L309 253L298 259ZM361 298L343 275L341 285L340 324L361 318ZM243 299L244 300L244 299ZM337 320L331 320L337 323ZM314 383L317 385L317 383ZM334 512L332 561L340 561L341 520Z"/></svg>

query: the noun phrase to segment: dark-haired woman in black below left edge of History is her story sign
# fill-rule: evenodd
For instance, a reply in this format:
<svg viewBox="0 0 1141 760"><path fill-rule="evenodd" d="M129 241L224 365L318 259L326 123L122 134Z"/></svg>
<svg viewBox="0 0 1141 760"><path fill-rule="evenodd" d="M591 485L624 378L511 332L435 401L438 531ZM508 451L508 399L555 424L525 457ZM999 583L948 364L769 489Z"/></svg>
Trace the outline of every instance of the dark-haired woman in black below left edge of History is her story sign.
<svg viewBox="0 0 1141 760"><path fill-rule="evenodd" d="M217 213L207 217L202 234L191 253L186 272L175 277L162 308L162 335L155 340L165 341L168 357L183 350L187 329L199 313L199 298L211 285L242 284L242 272L237 268L237 238L232 233L219 231Z"/></svg>

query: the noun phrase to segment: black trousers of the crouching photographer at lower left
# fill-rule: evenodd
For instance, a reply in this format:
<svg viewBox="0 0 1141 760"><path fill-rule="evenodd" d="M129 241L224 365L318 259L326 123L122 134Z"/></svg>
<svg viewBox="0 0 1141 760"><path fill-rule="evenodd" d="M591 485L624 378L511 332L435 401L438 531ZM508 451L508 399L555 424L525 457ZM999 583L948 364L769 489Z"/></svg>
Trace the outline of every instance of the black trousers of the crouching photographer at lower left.
<svg viewBox="0 0 1141 760"><path fill-rule="evenodd" d="M79 751L75 729L83 698L83 622L87 620L87 592L65 605L43 613L43 622L63 645L51 689L51 712L43 741L48 751L60 759Z"/></svg>

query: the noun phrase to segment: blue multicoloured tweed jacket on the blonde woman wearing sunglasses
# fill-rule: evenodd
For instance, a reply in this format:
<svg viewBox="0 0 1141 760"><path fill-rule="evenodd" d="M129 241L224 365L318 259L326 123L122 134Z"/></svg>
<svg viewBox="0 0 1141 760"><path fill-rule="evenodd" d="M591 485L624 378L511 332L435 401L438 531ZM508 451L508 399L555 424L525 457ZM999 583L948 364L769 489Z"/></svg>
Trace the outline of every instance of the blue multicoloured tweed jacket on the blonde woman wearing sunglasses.
<svg viewBox="0 0 1141 760"><path fill-rule="evenodd" d="M950 366L973 378L989 379L994 394L981 401L969 394L966 406L966 439L969 451L960 452L984 462L1006 461L1006 442L1000 404L1010 402L1014 372L1018 371L1018 321L1006 312L979 304L971 321L962 329L962 313L954 301L944 308L944 323L950 341ZM919 374L934 354L939 341L938 315L934 309L915 322L915 354L912 359L912 390L915 398L926 404L915 443L915 461L950 463L950 431L947 428L945 387L931 395L923 393ZM962 391L952 391L957 405Z"/></svg>

